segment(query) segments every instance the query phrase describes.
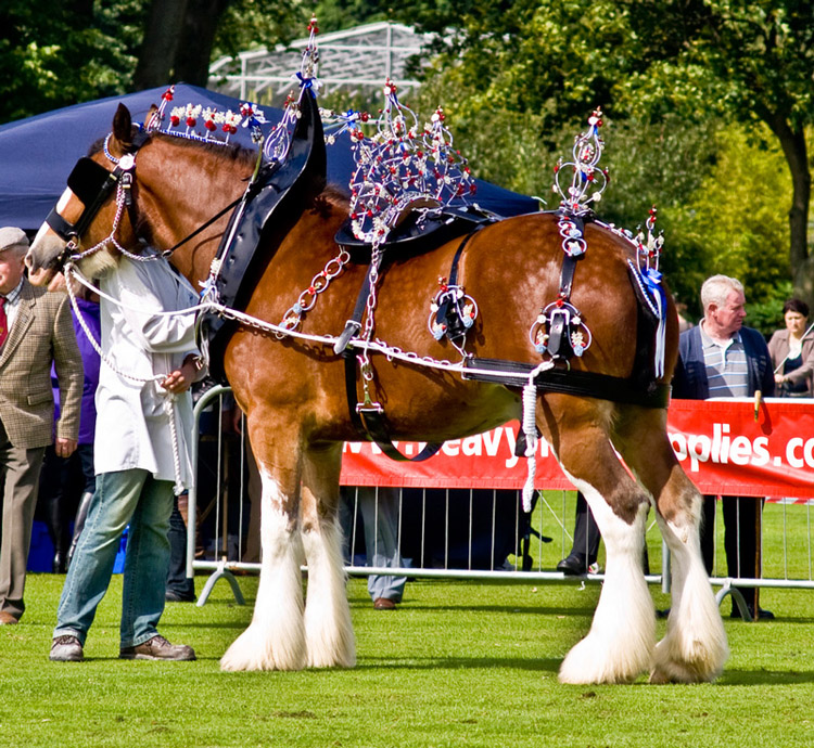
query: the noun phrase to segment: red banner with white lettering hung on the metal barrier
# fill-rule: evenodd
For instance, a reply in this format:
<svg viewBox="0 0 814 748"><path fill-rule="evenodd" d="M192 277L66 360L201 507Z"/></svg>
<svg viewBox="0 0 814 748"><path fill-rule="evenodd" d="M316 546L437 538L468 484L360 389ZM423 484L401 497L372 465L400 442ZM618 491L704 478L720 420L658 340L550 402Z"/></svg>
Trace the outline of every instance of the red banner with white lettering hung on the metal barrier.
<svg viewBox="0 0 814 748"><path fill-rule="evenodd" d="M346 486L522 488L525 459L514 456L518 423L447 441L421 463L390 460L372 443L345 444ZM814 401L673 400L667 434L682 466L703 493L814 498ZM423 444L396 443L407 456ZM548 443L537 446L537 488L573 488Z"/></svg>

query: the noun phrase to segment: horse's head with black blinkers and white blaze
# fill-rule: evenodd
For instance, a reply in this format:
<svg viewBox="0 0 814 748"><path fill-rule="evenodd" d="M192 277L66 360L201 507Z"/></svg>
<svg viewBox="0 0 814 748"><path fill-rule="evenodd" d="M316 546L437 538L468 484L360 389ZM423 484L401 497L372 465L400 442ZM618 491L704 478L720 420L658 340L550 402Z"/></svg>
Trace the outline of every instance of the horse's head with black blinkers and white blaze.
<svg viewBox="0 0 814 748"><path fill-rule="evenodd" d="M100 278L115 267L116 247L133 248L130 186L145 139L133 132L130 113L119 104L104 146L77 162L31 243L26 256L31 283L49 283L72 259L87 278Z"/></svg>

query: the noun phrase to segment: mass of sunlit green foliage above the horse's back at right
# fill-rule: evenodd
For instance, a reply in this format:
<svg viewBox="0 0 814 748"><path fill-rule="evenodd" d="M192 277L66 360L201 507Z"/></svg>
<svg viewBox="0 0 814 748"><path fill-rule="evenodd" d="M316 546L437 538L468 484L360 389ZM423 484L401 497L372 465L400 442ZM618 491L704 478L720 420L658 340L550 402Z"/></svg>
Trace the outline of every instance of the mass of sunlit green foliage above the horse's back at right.
<svg viewBox="0 0 814 748"><path fill-rule="evenodd" d="M421 98L444 102L479 176L548 196L550 166L601 105L614 177L601 217L635 228L656 204L677 297L695 310L703 279L728 272L752 321L774 324L790 258L804 257L788 211L809 199L814 4L406 0L398 13L450 43Z"/></svg>

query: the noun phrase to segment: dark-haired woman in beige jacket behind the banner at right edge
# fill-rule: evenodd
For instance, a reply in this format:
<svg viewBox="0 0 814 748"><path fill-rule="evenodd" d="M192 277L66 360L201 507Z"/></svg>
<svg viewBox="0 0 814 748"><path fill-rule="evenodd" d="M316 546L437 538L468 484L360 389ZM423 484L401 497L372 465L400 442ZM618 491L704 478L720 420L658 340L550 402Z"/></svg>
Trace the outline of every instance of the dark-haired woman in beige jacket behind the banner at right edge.
<svg viewBox="0 0 814 748"><path fill-rule="evenodd" d="M814 397L814 331L809 323L809 305L792 298L783 306L786 330L778 330L768 343L778 394L789 398Z"/></svg>

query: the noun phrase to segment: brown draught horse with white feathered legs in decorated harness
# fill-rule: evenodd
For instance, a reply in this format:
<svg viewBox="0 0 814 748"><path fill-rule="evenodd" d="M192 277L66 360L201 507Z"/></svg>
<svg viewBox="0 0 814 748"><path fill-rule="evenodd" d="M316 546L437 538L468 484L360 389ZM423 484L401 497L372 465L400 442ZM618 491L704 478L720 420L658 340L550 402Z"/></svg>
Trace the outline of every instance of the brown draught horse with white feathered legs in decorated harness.
<svg viewBox="0 0 814 748"><path fill-rule="evenodd" d="M131 150L129 113L119 107L109 152ZM112 170L99 150L92 158ZM240 196L251 175L247 152L152 134L136 154L132 206L116 235L133 249L137 238L174 246L217 209ZM347 216L338 191L317 190L300 206L293 228L266 263L246 312L279 323L303 289L336 256L334 234ZM81 236L84 247L111 233L116 205L107 199ZM82 212L66 191L58 211L68 221ZM171 261L193 284L207 278L221 219L178 249ZM572 301L589 322L594 344L573 360L574 371L628 377L634 366L637 301L626 261L631 243L587 224ZM467 349L481 358L539 363L529 328L542 305L556 298L562 240L549 214L507 219L478 232L460 259L460 284L480 314ZM376 309L376 336L421 357L455 358L451 346L427 330L429 301L446 276L460 241L385 266ZM43 225L31 245L31 276L47 282L59 270L65 242ZM100 253L101 255L107 254ZM111 254L118 258L115 252ZM99 272L94 257L86 275ZM129 260L120 260L129 261ZM81 267L81 266L80 266ZM302 330L338 335L351 317L365 268L347 265L319 294ZM676 362L677 321L669 301L663 382ZM463 381L459 374L372 354L371 395L385 409L393 438L456 439L521 415L517 387ZM355 643L345 596L338 525L342 443L356 440L345 396L344 365L330 346L280 339L239 326L225 353L225 370L246 414L263 479L263 567L251 626L225 654L227 670L351 667ZM594 622L562 663L569 683L628 682L650 671L653 682L713 680L728 655L721 616L699 549L701 496L675 459L666 437L666 410L593 397L542 391L536 424L563 470L587 498L607 549L607 576ZM624 459L620 461L616 452ZM629 469L628 469L629 468ZM645 520L650 505L672 552L673 598L665 637L656 643L652 599L641 573ZM301 564L308 567L303 601Z"/></svg>

